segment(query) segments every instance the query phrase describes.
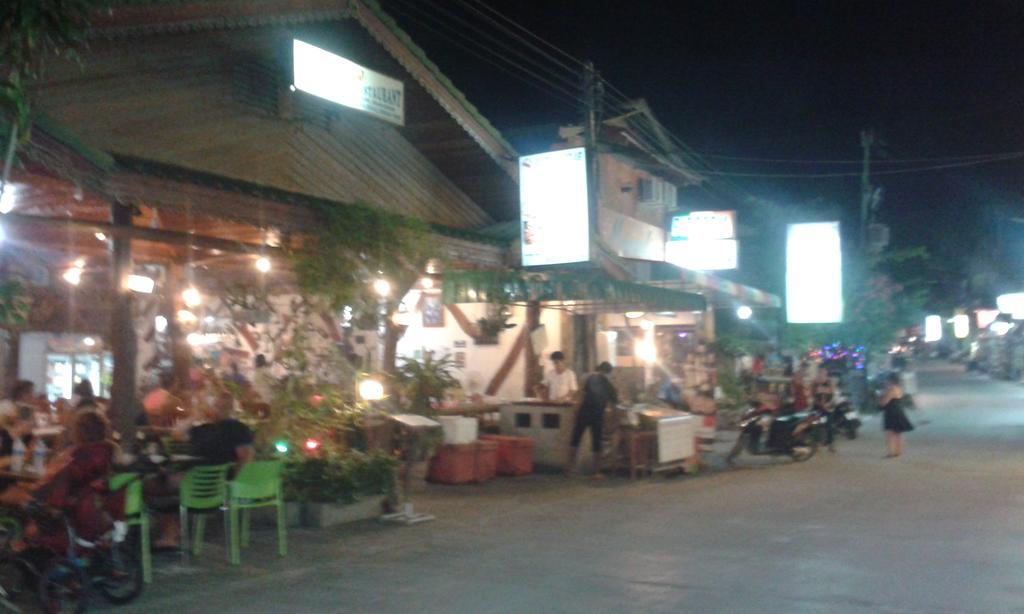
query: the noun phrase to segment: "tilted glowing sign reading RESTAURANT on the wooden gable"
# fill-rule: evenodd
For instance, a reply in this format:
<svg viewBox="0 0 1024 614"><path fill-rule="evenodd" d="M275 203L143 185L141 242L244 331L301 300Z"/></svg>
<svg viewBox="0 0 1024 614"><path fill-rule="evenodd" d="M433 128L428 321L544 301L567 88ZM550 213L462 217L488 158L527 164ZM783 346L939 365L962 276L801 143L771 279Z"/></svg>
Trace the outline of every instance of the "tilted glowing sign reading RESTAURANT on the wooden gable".
<svg viewBox="0 0 1024 614"><path fill-rule="evenodd" d="M295 89L404 125L402 82L300 40L293 41L292 56Z"/></svg>

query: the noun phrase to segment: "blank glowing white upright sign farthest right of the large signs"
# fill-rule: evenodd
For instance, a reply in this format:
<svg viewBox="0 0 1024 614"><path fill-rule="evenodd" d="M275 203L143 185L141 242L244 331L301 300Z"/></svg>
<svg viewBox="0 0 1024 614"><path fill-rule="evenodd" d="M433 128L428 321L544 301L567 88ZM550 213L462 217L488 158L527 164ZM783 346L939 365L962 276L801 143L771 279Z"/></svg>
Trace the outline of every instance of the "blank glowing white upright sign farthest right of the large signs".
<svg viewBox="0 0 1024 614"><path fill-rule="evenodd" d="M843 321L843 252L839 222L790 224L785 236L785 318Z"/></svg>

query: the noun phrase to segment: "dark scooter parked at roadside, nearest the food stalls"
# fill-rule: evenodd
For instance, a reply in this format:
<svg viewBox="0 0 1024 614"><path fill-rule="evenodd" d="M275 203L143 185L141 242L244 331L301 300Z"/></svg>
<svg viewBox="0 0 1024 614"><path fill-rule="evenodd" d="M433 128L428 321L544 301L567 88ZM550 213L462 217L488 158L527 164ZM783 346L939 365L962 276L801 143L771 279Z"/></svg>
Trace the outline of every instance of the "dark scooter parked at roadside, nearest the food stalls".
<svg viewBox="0 0 1024 614"><path fill-rule="evenodd" d="M752 407L739 419L739 437L725 457L726 463L732 465L744 449L753 455L807 461L818 451L824 421L824 412L818 409L776 415L770 409Z"/></svg>

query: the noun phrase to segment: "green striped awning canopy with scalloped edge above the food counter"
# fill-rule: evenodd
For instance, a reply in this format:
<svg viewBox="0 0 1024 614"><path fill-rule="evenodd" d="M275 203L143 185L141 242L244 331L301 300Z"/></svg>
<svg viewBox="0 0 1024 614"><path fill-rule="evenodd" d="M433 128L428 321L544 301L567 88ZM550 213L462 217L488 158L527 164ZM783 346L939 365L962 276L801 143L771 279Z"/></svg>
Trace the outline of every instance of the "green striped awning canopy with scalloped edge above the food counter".
<svg viewBox="0 0 1024 614"><path fill-rule="evenodd" d="M575 313L703 311L700 295L620 281L594 271L453 271L444 273L442 298L456 303L538 301Z"/></svg>

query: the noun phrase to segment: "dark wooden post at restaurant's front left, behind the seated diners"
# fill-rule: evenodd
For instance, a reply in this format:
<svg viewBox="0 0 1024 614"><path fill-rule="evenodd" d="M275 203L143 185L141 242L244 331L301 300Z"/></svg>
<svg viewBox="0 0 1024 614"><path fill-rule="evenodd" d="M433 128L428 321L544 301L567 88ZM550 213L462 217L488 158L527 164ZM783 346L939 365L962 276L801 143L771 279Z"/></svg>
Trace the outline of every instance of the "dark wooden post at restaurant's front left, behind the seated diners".
<svg viewBox="0 0 1024 614"><path fill-rule="evenodd" d="M131 226L132 208L115 203L111 219L116 226ZM111 310L111 352L114 354L114 381L111 385L111 412L114 429L121 440L131 441L135 431L136 402L135 360L138 354L132 296L127 279L132 272L131 239L125 235L111 239L111 275L114 308Z"/></svg>

